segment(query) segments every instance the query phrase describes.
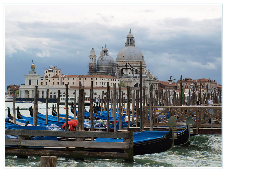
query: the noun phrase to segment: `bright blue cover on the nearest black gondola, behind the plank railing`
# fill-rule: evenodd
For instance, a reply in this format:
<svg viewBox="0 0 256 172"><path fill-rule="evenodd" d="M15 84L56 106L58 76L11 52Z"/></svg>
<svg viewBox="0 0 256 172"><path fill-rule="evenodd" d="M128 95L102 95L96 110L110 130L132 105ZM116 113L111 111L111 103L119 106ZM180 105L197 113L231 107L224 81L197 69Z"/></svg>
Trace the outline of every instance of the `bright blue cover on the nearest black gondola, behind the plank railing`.
<svg viewBox="0 0 256 172"><path fill-rule="evenodd" d="M167 133L167 131L144 131L139 133L133 133L133 144L162 138ZM110 139L98 137L97 139L95 139L94 142L123 142L123 139Z"/></svg>

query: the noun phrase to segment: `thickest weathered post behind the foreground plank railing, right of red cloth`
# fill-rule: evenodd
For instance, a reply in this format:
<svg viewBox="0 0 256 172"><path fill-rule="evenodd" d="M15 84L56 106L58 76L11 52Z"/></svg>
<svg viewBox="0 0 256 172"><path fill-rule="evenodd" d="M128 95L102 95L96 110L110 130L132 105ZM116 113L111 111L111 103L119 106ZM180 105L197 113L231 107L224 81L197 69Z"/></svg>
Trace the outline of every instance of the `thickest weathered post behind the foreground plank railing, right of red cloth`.
<svg viewBox="0 0 256 172"><path fill-rule="evenodd" d="M77 112L77 131L84 130L84 87L79 88L78 93L78 112ZM84 141L84 137L76 137L76 141ZM84 151L84 147L76 147L76 151ZM76 157L75 160L84 160Z"/></svg>

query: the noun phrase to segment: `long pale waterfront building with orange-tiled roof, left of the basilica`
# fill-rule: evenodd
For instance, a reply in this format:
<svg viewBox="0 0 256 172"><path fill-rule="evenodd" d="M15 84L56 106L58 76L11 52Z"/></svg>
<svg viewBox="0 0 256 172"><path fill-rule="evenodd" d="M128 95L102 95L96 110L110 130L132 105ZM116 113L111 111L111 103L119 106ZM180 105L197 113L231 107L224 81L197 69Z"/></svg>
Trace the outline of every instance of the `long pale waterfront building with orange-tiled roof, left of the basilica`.
<svg viewBox="0 0 256 172"><path fill-rule="evenodd" d="M20 85L19 88L19 98L21 100L34 99L35 86L38 87L38 99L45 99L46 90L49 89L49 99L57 101L58 90L60 90L60 96L66 95L65 84L68 84L69 96L74 96L75 90L78 96L80 84L85 88L84 94L90 95L91 81L93 81L94 99L96 99L99 98L99 95L102 95L102 91L104 91L104 97L106 97L107 82L109 82L112 90L114 84L116 84L116 89L118 90L120 82L118 78L106 75L61 75L61 69L58 69L57 66L50 66L44 71L44 76L42 77L32 69L29 74L25 75L25 84ZM123 95L126 95L126 88L122 88L122 91Z"/></svg>

